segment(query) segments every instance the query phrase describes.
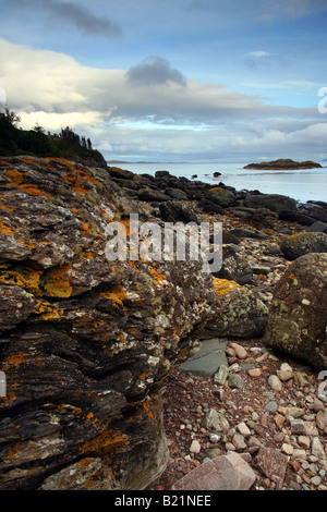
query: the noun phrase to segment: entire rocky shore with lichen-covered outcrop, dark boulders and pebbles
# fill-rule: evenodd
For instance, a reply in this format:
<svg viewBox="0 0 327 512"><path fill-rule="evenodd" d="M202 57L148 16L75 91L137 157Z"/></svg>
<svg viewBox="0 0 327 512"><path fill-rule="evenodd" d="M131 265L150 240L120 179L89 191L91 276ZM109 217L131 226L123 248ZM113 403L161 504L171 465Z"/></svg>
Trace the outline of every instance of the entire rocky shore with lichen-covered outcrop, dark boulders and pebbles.
<svg viewBox="0 0 327 512"><path fill-rule="evenodd" d="M326 313L310 307L316 296L326 312L326 204L56 158L0 170L1 488L177 489L214 461L241 467L245 488L326 490ZM131 214L222 222L222 268L108 266L106 225L129 231ZM312 253L318 265L299 269ZM320 272L307 296L303 265ZM282 279L280 293L300 296L292 310L275 295ZM288 313L295 355L267 346L272 305L272 327L290 336ZM305 344L312 336L319 343ZM216 337L220 375L182 373L194 344Z"/></svg>

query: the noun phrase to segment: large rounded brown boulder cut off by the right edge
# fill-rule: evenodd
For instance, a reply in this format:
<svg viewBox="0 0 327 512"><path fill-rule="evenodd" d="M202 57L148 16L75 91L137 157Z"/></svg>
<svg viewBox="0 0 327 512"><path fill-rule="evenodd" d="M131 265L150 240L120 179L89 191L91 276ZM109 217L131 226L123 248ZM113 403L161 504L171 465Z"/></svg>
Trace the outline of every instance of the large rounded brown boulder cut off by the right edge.
<svg viewBox="0 0 327 512"><path fill-rule="evenodd" d="M327 254L290 265L274 291L265 343L305 363L327 367Z"/></svg>

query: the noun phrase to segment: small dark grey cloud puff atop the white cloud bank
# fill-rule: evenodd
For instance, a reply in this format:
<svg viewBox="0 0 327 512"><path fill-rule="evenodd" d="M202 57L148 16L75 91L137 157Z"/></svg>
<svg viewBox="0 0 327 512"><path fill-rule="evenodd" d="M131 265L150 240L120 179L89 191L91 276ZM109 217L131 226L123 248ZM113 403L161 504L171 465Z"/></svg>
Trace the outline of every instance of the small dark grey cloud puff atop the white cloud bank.
<svg viewBox="0 0 327 512"><path fill-rule="evenodd" d="M161 57L148 57L140 64L131 68L126 73L126 80L135 85L168 85L169 82L186 85L186 78L178 70L170 66L169 62Z"/></svg>

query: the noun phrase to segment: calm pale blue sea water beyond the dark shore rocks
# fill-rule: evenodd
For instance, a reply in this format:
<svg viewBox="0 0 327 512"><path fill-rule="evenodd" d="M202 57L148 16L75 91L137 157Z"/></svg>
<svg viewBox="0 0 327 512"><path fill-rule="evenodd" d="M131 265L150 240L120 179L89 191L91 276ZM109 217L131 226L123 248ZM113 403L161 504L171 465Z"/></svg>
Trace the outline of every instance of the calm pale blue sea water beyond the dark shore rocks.
<svg viewBox="0 0 327 512"><path fill-rule="evenodd" d="M175 176L192 179L205 183L219 183L233 186L237 191L257 190L265 194L282 194L300 203L307 200L327 202L327 168L317 168L296 171L257 171L243 169L243 163L117 163L118 167L129 169L140 174L152 174L166 170ZM322 162L322 166L326 162ZM220 172L214 178L214 172Z"/></svg>

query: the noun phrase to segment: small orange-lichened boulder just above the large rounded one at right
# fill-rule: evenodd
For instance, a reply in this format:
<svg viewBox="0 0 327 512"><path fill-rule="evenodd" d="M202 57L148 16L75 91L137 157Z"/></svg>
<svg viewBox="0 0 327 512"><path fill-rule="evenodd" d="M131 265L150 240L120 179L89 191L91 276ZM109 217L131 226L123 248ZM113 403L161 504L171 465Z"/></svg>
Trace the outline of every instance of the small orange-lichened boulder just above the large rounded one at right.
<svg viewBox="0 0 327 512"><path fill-rule="evenodd" d="M327 253L327 234L320 232L301 231L284 236L280 249L283 255L294 260L308 253Z"/></svg>

